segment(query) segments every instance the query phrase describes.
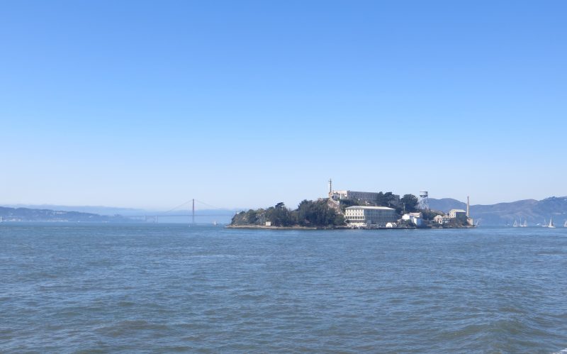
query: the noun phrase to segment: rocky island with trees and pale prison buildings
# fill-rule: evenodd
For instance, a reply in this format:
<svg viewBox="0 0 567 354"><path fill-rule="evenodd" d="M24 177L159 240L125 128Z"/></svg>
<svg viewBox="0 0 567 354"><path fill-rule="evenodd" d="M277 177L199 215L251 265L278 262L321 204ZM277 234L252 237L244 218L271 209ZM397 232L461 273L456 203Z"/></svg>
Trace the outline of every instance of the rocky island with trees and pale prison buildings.
<svg viewBox="0 0 567 354"><path fill-rule="evenodd" d="M420 208L417 197L392 192L331 192L329 198L303 200L296 209L283 202L266 209L249 209L236 214L228 228L262 229L391 229L470 228L468 212Z"/></svg>

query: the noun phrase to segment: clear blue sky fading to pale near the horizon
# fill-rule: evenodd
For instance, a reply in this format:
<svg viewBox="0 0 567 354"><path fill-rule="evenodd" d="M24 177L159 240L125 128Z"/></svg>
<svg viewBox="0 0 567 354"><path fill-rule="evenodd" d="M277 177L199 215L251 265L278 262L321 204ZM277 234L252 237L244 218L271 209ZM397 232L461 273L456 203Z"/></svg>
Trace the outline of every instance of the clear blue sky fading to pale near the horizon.
<svg viewBox="0 0 567 354"><path fill-rule="evenodd" d="M567 195L566 1L2 1L0 204Z"/></svg>

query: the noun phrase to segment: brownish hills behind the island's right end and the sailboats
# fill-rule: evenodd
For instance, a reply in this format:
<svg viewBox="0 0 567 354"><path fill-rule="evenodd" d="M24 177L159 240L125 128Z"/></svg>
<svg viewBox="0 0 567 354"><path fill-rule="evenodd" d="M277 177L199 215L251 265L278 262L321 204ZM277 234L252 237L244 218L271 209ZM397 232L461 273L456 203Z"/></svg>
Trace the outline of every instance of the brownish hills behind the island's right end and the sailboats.
<svg viewBox="0 0 567 354"><path fill-rule="evenodd" d="M466 203L456 199L430 199L430 208L447 212L450 209L466 209ZM567 220L567 197L550 197L540 201L525 199L510 203L492 205L471 205L471 216L480 221L481 225L502 226L512 225L520 218L527 220L529 226L549 222L554 219L557 226L562 226Z"/></svg>

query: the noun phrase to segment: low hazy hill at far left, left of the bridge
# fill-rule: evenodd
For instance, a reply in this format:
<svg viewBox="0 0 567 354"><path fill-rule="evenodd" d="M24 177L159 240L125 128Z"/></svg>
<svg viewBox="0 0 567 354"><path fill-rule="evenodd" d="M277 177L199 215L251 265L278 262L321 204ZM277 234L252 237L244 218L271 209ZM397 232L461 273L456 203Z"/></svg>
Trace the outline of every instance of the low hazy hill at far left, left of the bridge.
<svg viewBox="0 0 567 354"><path fill-rule="evenodd" d="M7 208L0 206L2 221L68 221L68 222L91 222L112 223L130 222L123 216L108 216L79 211L57 211L51 209L30 208Z"/></svg>

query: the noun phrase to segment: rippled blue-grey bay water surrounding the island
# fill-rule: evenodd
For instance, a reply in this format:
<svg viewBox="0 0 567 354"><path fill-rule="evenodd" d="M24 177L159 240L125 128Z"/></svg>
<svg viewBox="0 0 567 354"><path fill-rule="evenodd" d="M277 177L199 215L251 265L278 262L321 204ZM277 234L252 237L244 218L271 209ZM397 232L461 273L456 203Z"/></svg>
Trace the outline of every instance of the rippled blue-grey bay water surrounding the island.
<svg viewBox="0 0 567 354"><path fill-rule="evenodd" d="M0 352L567 348L567 229L0 224Z"/></svg>

